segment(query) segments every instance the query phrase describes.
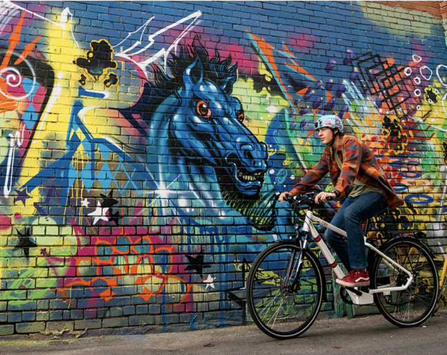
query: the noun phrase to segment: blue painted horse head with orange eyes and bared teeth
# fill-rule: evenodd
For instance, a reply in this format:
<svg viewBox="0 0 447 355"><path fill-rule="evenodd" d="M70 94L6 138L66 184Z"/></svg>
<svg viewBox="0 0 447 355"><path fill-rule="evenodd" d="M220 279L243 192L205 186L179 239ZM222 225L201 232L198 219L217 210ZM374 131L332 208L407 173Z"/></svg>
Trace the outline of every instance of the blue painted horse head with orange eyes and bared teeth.
<svg viewBox="0 0 447 355"><path fill-rule="evenodd" d="M155 195L169 207L195 201L210 217L230 207L256 227L270 228L272 208L259 199L267 146L244 125L241 102L231 95L237 64L219 53L210 58L196 38L172 55L168 68L170 75L152 66L154 81L140 100Z"/></svg>

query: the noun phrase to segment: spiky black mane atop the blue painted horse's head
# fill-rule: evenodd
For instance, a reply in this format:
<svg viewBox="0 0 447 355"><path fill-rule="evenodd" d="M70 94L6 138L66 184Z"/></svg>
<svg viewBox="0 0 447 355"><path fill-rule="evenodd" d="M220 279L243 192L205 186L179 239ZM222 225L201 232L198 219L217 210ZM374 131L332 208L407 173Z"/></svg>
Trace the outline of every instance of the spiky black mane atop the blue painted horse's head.
<svg viewBox="0 0 447 355"><path fill-rule="evenodd" d="M203 68L203 77L219 84L221 81L236 79L237 64L231 65L231 54L226 59L221 59L219 52L210 58L208 51L200 43L199 37L195 37L192 45L179 46L179 55L171 54L171 59L166 62L170 75L157 64L152 64L154 81L151 96L155 100L163 101L168 95L175 92L183 84L183 73L194 61L199 58ZM168 70L167 70L168 71ZM225 86L225 85L224 85Z"/></svg>

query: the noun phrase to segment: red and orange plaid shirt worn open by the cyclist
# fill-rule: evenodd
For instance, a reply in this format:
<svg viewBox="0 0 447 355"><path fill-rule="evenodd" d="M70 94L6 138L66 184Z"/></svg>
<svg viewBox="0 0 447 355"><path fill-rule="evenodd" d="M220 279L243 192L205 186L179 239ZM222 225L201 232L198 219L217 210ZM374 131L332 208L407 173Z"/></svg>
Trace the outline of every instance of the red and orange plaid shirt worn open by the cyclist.
<svg viewBox="0 0 447 355"><path fill-rule="evenodd" d="M381 189L391 209L404 204L404 200L396 195L368 146L356 137L352 137L352 135L344 135L340 138L341 143L337 154L343 162L341 171L335 157L330 154L330 148L326 147L317 165L310 169L304 178L293 186L290 192L294 195L305 193L329 173L334 189L339 192L340 197L347 196L350 193L352 182L357 178L365 184Z"/></svg>

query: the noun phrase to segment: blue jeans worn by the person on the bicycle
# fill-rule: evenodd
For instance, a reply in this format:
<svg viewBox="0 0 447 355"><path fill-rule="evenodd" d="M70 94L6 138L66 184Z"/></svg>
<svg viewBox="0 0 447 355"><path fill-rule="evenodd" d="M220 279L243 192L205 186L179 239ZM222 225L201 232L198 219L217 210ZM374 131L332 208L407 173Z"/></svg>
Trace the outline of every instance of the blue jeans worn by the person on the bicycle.
<svg viewBox="0 0 447 355"><path fill-rule="evenodd" d="M348 271L368 267L361 222L385 211L387 207L388 204L381 193L367 192L357 198L348 197L335 213L330 223L346 231L348 242L330 229L326 229L324 237Z"/></svg>

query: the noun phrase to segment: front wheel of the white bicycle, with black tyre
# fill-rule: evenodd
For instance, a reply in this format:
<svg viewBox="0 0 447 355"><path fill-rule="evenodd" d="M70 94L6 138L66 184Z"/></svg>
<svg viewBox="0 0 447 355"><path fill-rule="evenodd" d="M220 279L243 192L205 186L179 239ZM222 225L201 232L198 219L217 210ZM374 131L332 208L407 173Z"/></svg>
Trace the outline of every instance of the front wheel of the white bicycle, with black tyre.
<svg viewBox="0 0 447 355"><path fill-rule="evenodd" d="M318 316L323 292L324 274L317 257L292 241L277 242L262 251L250 269L246 287L252 320L277 339L306 332Z"/></svg>

